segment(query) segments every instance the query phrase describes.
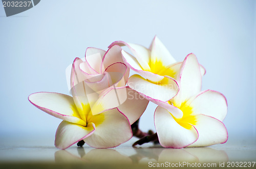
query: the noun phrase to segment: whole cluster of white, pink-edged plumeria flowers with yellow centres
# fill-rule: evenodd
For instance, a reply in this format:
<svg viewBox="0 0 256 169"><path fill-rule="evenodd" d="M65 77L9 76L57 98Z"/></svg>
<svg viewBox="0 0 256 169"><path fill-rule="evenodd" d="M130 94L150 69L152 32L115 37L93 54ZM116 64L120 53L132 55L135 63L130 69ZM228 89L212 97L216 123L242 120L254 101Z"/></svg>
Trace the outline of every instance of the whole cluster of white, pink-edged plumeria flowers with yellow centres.
<svg viewBox="0 0 256 169"><path fill-rule="evenodd" d="M137 74L129 77L130 69ZM84 61L74 60L73 97L37 92L29 95L29 101L63 120L55 136L59 149L77 142L78 146L112 148L138 136L136 125L149 101L158 105L154 114L157 132L142 133L134 145L157 141L166 148L204 147L228 138L222 123L227 114L225 96L214 90L201 91L204 74L194 54L176 62L157 37L149 49L115 41L108 51L89 47Z"/></svg>

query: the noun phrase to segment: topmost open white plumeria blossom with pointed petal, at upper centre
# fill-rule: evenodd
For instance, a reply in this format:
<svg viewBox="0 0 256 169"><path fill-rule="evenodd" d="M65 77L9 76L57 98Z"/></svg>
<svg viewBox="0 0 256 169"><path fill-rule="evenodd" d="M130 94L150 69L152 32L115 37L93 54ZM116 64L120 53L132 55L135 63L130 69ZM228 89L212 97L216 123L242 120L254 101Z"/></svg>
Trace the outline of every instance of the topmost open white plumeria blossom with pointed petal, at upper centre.
<svg viewBox="0 0 256 169"><path fill-rule="evenodd" d="M115 41L109 47L115 44L126 45L134 55L122 50L124 63L139 74L129 78L129 87L152 102L166 102L178 93L179 87L175 78L181 62L176 62L158 37L153 39L149 49L123 41ZM201 69L204 75L205 69L202 66Z"/></svg>

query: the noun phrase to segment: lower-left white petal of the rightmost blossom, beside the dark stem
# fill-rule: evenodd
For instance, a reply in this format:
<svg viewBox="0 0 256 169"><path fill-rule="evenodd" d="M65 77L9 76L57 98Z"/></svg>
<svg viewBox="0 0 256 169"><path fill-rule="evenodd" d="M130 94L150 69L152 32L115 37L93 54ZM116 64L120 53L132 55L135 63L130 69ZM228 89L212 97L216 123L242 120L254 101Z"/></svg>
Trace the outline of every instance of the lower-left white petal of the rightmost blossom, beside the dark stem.
<svg viewBox="0 0 256 169"><path fill-rule="evenodd" d="M163 147L183 148L198 139L198 133L194 127L183 128L166 109L158 106L154 116L158 139Z"/></svg>

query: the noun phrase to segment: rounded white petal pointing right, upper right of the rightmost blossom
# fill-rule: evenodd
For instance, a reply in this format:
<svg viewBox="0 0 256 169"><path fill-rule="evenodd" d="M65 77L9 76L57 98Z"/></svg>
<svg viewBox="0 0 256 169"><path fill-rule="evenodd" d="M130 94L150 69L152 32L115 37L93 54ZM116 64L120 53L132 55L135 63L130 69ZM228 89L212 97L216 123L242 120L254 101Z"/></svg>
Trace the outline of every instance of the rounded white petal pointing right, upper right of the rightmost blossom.
<svg viewBox="0 0 256 169"><path fill-rule="evenodd" d="M190 103L193 114L204 114L223 121L227 115L227 100L223 94L213 90L201 92Z"/></svg>

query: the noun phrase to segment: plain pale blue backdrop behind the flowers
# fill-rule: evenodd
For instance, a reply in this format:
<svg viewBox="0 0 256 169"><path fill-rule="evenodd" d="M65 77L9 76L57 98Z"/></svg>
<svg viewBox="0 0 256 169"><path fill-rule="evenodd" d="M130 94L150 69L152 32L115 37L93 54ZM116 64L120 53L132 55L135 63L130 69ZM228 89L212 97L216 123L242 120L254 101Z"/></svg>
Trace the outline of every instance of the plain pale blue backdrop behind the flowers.
<svg viewBox="0 0 256 169"><path fill-rule="evenodd" d="M11 17L0 7L0 16L1 137L53 138L61 120L30 104L29 94L69 94L65 69L87 47L148 47L157 35L177 61L196 54L206 68L203 90L226 96L229 139L255 140L256 1L42 0ZM142 130L155 130L155 108L142 115Z"/></svg>

